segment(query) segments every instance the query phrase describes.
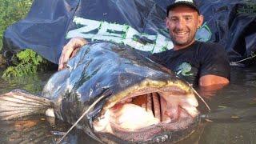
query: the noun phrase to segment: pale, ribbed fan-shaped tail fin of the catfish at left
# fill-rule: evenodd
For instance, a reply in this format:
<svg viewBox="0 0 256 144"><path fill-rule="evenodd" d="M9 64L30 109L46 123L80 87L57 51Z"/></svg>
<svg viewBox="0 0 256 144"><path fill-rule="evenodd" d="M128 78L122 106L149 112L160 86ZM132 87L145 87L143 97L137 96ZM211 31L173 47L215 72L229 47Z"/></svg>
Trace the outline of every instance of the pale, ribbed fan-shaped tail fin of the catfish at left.
<svg viewBox="0 0 256 144"><path fill-rule="evenodd" d="M45 114L50 107L49 99L28 94L24 90L13 90L0 95L0 120Z"/></svg>

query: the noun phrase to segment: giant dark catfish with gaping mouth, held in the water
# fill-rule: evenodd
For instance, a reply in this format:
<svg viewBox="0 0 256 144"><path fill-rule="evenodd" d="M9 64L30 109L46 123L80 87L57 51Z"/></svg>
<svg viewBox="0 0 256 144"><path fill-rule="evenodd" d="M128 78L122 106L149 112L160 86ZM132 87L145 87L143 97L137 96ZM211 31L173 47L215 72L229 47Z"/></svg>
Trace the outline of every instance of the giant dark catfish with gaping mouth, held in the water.
<svg viewBox="0 0 256 144"><path fill-rule="evenodd" d="M47 113L74 124L97 100L78 128L99 142L176 142L200 122L191 86L138 51L112 42L83 46L50 78L42 96L22 90L2 94L0 118Z"/></svg>

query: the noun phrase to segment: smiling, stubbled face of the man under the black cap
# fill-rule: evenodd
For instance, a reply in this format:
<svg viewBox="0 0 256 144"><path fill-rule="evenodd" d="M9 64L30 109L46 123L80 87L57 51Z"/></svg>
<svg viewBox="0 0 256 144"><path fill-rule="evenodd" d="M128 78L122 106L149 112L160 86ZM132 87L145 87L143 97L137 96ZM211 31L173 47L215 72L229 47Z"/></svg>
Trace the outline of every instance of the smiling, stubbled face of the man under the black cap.
<svg viewBox="0 0 256 144"><path fill-rule="evenodd" d="M169 11L166 26L174 47L190 46L194 42L195 33L202 26L203 17L188 6L177 6Z"/></svg>

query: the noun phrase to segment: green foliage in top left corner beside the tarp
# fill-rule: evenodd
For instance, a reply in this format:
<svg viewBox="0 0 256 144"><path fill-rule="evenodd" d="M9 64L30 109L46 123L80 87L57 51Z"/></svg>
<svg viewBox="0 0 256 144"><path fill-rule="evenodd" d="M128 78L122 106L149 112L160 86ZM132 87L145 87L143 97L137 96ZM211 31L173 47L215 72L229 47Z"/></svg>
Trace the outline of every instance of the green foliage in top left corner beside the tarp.
<svg viewBox="0 0 256 144"><path fill-rule="evenodd" d="M7 26L26 16L32 2L33 0L0 0L0 50L3 32Z"/></svg>

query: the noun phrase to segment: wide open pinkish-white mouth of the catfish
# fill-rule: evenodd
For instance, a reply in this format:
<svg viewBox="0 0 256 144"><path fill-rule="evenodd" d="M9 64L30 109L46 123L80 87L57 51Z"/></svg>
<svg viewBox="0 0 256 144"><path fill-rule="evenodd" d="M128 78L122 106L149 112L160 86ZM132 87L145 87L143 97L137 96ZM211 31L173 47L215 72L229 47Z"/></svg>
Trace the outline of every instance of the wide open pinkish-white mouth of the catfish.
<svg viewBox="0 0 256 144"><path fill-rule="evenodd" d="M199 114L194 93L178 86L146 87L115 100L94 120L94 130L127 141L145 142L165 131L184 130Z"/></svg>

